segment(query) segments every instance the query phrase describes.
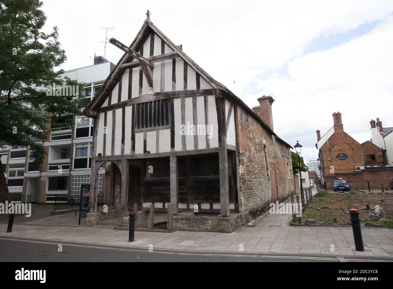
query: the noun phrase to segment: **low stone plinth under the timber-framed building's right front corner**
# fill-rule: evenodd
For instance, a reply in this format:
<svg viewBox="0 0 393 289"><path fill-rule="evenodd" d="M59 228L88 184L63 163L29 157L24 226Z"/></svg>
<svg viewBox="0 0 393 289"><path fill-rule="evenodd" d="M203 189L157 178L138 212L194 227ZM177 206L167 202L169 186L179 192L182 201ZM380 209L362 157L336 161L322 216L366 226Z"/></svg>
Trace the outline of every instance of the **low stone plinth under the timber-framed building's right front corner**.
<svg viewBox="0 0 393 289"><path fill-rule="evenodd" d="M241 228L240 214L220 216L172 216L172 228L179 231L231 233Z"/></svg>

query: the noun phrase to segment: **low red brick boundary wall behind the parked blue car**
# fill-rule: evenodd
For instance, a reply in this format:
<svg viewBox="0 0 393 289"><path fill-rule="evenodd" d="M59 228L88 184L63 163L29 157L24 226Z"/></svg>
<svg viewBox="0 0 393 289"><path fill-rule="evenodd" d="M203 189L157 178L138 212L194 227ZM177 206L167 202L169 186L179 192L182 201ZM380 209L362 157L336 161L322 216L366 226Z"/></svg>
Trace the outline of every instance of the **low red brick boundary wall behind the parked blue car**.
<svg viewBox="0 0 393 289"><path fill-rule="evenodd" d="M351 190L355 190L356 183L351 181L370 181L372 189L380 189L381 182L390 182L393 178L393 169L362 169L358 173L336 173L335 175L323 176L323 180L327 182L327 187L331 188L333 180L342 178L349 182ZM358 182L359 189L367 189L367 182Z"/></svg>

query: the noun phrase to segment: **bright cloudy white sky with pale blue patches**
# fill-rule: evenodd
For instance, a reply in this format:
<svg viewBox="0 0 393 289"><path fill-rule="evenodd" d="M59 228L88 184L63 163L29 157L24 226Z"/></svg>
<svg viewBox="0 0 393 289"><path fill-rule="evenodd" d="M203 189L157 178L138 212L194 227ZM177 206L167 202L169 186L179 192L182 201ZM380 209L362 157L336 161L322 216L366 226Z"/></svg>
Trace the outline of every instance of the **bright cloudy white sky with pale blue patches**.
<svg viewBox="0 0 393 289"><path fill-rule="evenodd" d="M275 133L316 158L316 130L333 126L362 143L371 119L393 127L393 1L43 0L71 70L103 55L105 29L129 45L151 21L249 107L272 95ZM106 58L123 52L107 44ZM233 83L235 81L235 83Z"/></svg>

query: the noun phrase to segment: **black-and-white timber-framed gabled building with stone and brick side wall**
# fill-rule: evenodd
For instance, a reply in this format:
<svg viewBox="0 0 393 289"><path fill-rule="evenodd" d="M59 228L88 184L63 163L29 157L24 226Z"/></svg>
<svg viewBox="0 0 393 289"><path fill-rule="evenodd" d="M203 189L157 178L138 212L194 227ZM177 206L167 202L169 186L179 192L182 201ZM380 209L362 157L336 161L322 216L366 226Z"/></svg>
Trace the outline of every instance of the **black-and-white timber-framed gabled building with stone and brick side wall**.
<svg viewBox="0 0 393 289"><path fill-rule="evenodd" d="M178 230L231 232L294 190L290 148L273 131L270 96L250 109L146 19L83 110L94 118L87 224L138 226L168 204ZM111 162L108 206L97 212L99 168ZM197 211L197 212L196 212ZM162 220L162 219L161 219Z"/></svg>

